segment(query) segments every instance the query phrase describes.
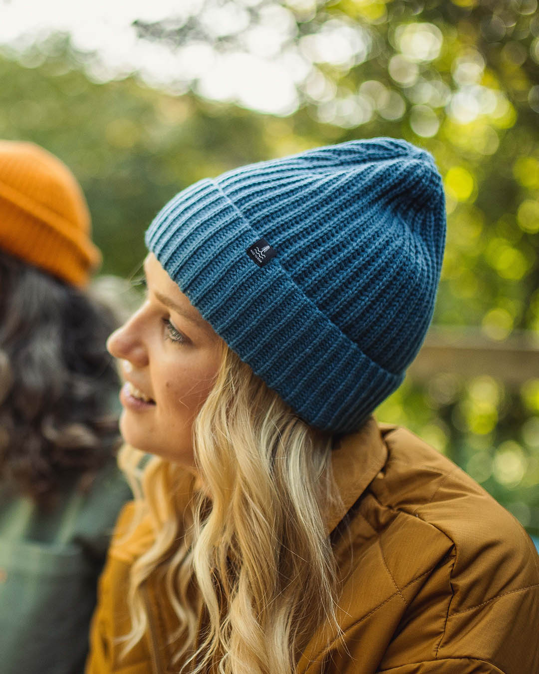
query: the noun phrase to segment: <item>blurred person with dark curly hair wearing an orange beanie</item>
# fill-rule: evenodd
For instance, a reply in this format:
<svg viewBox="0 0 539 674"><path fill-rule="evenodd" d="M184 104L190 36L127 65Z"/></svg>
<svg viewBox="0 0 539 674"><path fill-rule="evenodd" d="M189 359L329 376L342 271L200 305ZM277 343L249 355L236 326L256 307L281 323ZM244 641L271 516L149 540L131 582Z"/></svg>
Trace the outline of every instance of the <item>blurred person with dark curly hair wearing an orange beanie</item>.
<svg viewBox="0 0 539 674"><path fill-rule="evenodd" d="M130 490L117 469L115 328L75 178L0 141L0 671L80 673L96 583Z"/></svg>

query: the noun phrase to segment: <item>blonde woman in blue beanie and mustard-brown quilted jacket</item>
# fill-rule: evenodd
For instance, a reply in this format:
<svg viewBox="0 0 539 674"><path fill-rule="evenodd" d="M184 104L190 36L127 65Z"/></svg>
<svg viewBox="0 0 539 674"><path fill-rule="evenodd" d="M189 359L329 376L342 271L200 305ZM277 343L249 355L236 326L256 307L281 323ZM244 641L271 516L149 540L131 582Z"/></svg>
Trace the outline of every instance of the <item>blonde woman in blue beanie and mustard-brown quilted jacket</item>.
<svg viewBox="0 0 539 674"><path fill-rule="evenodd" d="M88 674L539 671L530 539L372 417L444 239L432 157L389 138L199 181L156 216L146 301L108 342L135 500Z"/></svg>

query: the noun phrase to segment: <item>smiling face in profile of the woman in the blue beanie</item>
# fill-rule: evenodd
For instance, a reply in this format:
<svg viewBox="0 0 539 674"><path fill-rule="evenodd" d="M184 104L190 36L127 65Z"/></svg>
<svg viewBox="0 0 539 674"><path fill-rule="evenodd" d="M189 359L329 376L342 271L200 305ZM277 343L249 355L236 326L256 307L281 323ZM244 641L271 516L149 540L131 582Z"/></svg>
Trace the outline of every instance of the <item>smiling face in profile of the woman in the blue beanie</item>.
<svg viewBox="0 0 539 674"><path fill-rule="evenodd" d="M133 447L193 466L193 420L214 384L222 340L150 253L140 309L108 338L125 384L120 429Z"/></svg>

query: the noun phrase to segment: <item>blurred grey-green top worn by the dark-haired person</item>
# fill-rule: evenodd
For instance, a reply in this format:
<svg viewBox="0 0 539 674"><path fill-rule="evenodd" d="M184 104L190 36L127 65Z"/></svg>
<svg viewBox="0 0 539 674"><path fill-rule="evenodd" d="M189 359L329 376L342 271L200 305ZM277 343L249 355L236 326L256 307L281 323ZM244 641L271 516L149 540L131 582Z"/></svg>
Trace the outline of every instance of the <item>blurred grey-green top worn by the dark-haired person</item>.
<svg viewBox="0 0 539 674"><path fill-rule="evenodd" d="M72 489L53 510L0 486L0 670L78 674L117 514L131 498L115 462L87 493Z"/></svg>

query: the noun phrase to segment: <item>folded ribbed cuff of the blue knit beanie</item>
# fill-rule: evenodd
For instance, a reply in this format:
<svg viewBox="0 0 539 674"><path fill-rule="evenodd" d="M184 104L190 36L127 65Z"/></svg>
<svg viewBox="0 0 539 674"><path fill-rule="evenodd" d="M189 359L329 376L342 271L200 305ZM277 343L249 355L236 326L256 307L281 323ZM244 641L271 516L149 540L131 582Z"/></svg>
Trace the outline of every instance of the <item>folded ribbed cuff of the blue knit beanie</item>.
<svg viewBox="0 0 539 674"><path fill-rule="evenodd" d="M279 251L255 264L247 249L264 237L216 181L205 179L162 210L146 245L228 346L300 417L321 429L354 431L404 375L372 361L320 311Z"/></svg>

